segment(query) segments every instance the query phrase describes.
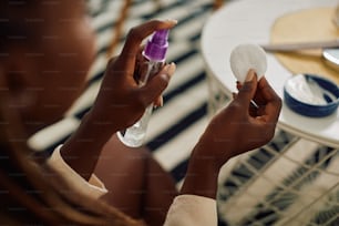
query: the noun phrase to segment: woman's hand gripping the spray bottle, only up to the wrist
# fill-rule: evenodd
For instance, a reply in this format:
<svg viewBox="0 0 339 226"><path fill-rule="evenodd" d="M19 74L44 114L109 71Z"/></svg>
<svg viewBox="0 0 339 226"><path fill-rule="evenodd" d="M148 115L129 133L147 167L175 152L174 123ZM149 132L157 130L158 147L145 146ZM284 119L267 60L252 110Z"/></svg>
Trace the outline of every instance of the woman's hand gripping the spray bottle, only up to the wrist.
<svg viewBox="0 0 339 226"><path fill-rule="evenodd" d="M91 114L97 123L107 124L112 126L112 132L116 132L134 124L152 102L158 103L158 97L175 71L175 64L164 66L143 88L137 86L133 74L142 41L154 31L171 29L175 24L176 21L172 20L152 20L129 32L122 53L107 64L101 90L92 109Z"/></svg>

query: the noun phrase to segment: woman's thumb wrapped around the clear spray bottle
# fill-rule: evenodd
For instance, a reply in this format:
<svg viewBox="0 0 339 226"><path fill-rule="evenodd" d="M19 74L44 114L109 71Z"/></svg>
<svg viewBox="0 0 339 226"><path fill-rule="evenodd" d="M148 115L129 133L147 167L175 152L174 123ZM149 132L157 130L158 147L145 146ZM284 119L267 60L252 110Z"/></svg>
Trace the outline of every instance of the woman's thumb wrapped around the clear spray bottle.
<svg viewBox="0 0 339 226"><path fill-rule="evenodd" d="M158 74L153 76L143 88L140 89L145 106L154 102L154 100L156 100L167 88L170 79L175 72L175 63L164 66Z"/></svg>

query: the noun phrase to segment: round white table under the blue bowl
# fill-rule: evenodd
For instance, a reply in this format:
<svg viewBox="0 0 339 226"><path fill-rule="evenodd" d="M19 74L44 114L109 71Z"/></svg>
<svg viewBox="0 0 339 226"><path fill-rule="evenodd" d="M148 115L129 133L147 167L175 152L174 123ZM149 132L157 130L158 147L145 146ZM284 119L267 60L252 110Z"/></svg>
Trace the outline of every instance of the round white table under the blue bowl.
<svg viewBox="0 0 339 226"><path fill-rule="evenodd" d="M230 96L236 80L229 66L232 50L242 43L269 43L270 27L280 16L300 9L336 7L337 0L234 0L216 11L202 34L202 54L209 80L209 109L216 110L220 93ZM271 53L267 53L266 79L282 97L285 81L291 76ZM338 71L339 76L339 71ZM299 137L339 147L339 111L327 117L299 115L282 104L278 127Z"/></svg>

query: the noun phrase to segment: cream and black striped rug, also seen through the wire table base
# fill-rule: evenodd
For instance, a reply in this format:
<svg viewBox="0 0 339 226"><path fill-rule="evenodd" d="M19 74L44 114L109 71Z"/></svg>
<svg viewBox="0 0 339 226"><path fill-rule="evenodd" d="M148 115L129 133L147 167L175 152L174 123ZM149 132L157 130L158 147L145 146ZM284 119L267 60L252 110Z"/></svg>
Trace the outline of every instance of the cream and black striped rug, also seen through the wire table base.
<svg viewBox="0 0 339 226"><path fill-rule="evenodd" d="M123 0L88 0L97 34L97 55L89 86L64 120L41 131L30 145L51 153L76 129L92 105L106 65L106 50ZM164 106L154 111L146 146L176 179L183 181L189 153L207 125L208 89L199 38L213 13L212 0L135 0L125 22L127 30L145 20L176 19L170 33L168 62L177 71L164 93ZM116 53L123 44L121 40ZM226 61L226 60L225 60ZM223 103L225 104L225 102ZM219 225L339 225L338 150L320 146L277 131L268 145L226 164L219 176Z"/></svg>

